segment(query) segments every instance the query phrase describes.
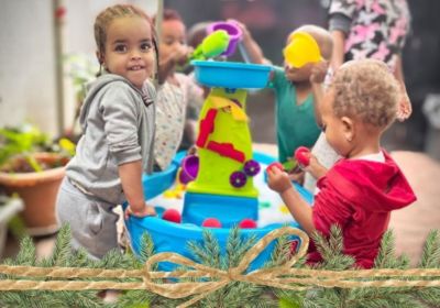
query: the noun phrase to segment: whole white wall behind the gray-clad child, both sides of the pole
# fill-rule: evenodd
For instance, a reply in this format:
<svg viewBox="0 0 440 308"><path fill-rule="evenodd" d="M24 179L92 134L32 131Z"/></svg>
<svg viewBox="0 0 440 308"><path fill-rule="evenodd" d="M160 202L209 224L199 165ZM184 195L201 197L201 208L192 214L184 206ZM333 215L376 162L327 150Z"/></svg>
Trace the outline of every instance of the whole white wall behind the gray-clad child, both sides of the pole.
<svg viewBox="0 0 440 308"><path fill-rule="evenodd" d="M130 2L153 14L157 0L65 0L64 53L95 53L92 25L106 7ZM57 134L52 0L0 0L0 127L24 121ZM65 125L74 94L65 81Z"/></svg>

